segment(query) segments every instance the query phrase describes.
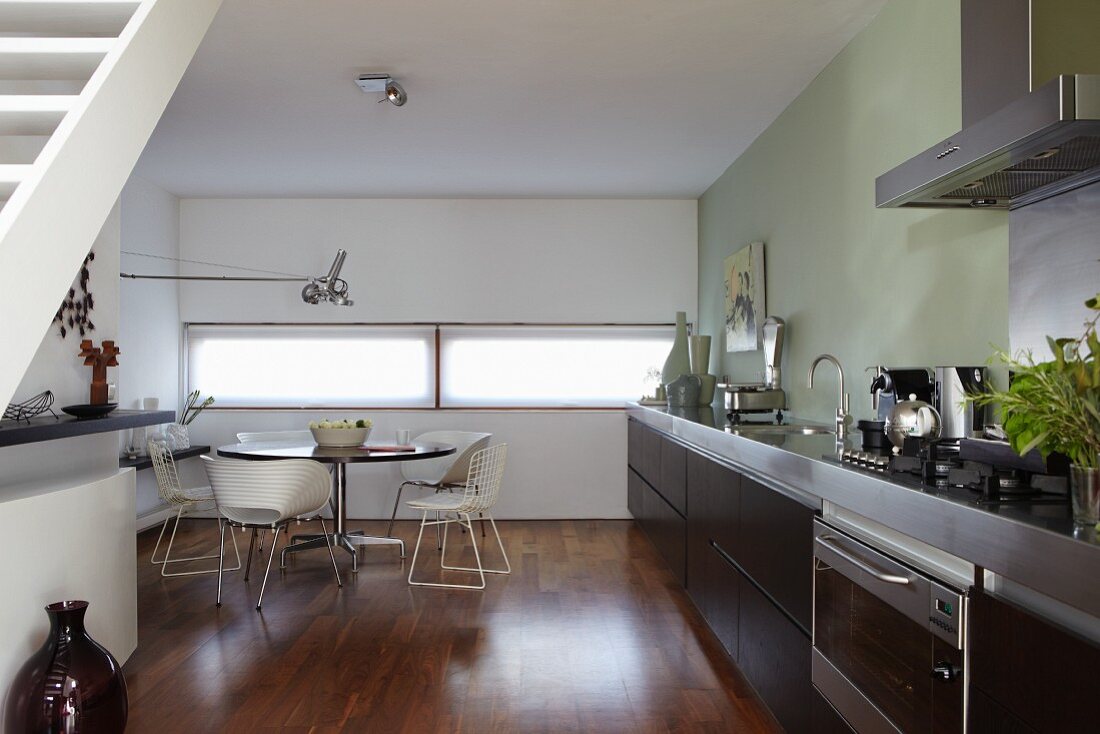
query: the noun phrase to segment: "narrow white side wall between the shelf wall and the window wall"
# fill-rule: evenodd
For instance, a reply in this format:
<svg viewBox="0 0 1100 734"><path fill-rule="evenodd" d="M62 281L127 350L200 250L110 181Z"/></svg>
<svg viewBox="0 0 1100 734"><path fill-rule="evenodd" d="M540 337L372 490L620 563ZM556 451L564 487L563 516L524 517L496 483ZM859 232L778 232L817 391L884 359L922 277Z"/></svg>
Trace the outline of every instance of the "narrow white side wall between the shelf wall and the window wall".
<svg viewBox="0 0 1100 734"><path fill-rule="evenodd" d="M122 272L146 275L179 273L179 199L138 176L131 176L121 197ZM168 258L143 258L125 252ZM175 410L179 401L179 284L177 281L122 278L120 283L120 342L127 358L119 364L119 404L141 407L143 397L156 397L161 409ZM150 429L152 430L152 429ZM119 435L120 448L131 431ZM151 471L138 472L138 515L161 507Z"/></svg>

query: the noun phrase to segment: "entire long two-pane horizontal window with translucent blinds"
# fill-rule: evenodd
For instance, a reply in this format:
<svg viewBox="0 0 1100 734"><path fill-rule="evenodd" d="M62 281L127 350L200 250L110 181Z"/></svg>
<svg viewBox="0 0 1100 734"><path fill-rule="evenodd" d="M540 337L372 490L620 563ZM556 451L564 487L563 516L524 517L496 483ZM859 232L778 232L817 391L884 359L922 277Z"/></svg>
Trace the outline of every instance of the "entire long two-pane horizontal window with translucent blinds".
<svg viewBox="0 0 1100 734"><path fill-rule="evenodd" d="M190 325L186 382L218 407L620 407L652 388L672 338L671 326Z"/></svg>

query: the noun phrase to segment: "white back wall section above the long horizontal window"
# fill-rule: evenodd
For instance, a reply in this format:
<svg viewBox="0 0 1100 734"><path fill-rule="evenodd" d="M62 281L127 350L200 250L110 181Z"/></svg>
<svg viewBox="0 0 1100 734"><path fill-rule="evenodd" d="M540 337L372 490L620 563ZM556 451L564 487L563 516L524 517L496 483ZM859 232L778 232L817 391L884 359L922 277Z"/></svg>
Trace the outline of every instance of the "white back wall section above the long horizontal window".
<svg viewBox="0 0 1100 734"><path fill-rule="evenodd" d="M309 306L293 283L185 283L180 315L671 321L695 308L695 213L694 200L184 199L183 258L322 274L343 248L355 306Z"/></svg>

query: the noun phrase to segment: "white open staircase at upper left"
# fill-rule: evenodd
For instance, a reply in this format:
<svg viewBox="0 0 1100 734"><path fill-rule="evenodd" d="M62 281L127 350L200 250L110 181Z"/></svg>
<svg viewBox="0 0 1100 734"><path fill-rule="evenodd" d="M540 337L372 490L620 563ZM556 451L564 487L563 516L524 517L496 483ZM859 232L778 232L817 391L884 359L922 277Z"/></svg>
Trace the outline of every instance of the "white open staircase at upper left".
<svg viewBox="0 0 1100 734"><path fill-rule="evenodd" d="M0 0L0 407L221 0Z"/></svg>

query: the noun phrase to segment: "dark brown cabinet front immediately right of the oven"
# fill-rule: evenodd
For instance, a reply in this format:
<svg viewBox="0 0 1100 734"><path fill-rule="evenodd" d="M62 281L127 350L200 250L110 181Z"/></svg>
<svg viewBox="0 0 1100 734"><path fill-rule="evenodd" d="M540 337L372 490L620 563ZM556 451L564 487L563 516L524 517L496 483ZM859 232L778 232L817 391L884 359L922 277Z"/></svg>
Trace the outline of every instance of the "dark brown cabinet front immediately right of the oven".
<svg viewBox="0 0 1100 734"><path fill-rule="evenodd" d="M971 732L1097 730L1100 646L977 590L969 629Z"/></svg>

